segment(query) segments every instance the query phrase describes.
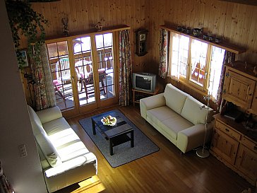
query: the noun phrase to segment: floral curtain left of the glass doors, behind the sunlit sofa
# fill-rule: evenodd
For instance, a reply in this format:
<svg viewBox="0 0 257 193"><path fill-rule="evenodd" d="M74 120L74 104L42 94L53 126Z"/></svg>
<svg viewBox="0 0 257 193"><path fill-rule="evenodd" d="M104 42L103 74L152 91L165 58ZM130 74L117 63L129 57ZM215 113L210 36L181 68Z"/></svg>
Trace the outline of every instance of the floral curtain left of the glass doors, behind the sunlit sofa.
<svg viewBox="0 0 257 193"><path fill-rule="evenodd" d="M39 49L33 50L33 55L37 54L37 57L30 58L32 77L35 81L33 85L35 104L33 105L35 105L36 110L43 110L56 106L56 98L47 57L47 47L42 44Z"/></svg>

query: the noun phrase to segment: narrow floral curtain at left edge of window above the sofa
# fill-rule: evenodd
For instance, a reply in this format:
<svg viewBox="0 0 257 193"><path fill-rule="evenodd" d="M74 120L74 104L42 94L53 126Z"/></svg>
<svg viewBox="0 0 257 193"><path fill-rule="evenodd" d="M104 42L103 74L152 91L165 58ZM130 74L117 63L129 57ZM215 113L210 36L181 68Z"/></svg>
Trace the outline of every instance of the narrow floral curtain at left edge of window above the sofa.
<svg viewBox="0 0 257 193"><path fill-rule="evenodd" d="M168 50L167 50L167 37L168 31L160 30L160 62L159 62L159 76L162 78L167 77L168 72Z"/></svg>

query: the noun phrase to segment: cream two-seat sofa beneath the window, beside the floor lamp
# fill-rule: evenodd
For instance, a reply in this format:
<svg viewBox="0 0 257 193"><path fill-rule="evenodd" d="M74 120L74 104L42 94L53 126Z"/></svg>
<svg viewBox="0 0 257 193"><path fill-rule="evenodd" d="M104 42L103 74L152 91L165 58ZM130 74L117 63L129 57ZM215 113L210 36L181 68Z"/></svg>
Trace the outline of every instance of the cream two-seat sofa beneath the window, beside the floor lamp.
<svg viewBox="0 0 257 193"><path fill-rule="evenodd" d="M141 116L186 153L203 145L207 108L191 95L168 83L165 92L140 100ZM213 130L213 109L208 110L207 141Z"/></svg>

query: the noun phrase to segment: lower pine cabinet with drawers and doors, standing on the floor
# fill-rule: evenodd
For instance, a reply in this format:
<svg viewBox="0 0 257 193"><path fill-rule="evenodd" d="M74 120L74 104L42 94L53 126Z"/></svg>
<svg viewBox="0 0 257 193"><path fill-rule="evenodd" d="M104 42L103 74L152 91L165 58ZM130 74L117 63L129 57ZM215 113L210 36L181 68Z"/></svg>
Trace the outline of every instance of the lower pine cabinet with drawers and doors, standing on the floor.
<svg viewBox="0 0 257 193"><path fill-rule="evenodd" d="M210 153L239 173L251 185L257 180L257 132L220 115L215 115Z"/></svg>

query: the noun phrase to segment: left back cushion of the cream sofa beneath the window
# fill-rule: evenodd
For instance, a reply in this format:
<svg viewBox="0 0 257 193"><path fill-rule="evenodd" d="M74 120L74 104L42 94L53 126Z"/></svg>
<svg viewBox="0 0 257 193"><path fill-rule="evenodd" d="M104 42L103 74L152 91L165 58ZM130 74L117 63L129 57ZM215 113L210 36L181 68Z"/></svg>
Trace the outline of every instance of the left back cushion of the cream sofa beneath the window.
<svg viewBox="0 0 257 193"><path fill-rule="evenodd" d="M171 83L168 83L165 87L164 96L166 105L174 110L174 112L181 114L186 97L189 96L189 94L184 93L182 90L179 90L179 88L176 88Z"/></svg>

